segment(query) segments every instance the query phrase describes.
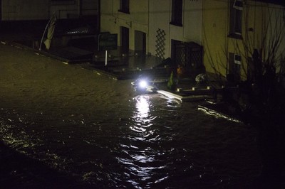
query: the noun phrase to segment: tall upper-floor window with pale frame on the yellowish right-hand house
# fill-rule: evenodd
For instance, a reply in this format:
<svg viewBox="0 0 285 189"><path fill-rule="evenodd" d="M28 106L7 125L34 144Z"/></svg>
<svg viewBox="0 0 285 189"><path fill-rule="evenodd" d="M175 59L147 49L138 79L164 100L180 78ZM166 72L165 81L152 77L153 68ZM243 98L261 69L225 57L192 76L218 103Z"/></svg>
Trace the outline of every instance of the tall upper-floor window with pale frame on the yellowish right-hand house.
<svg viewBox="0 0 285 189"><path fill-rule="evenodd" d="M242 0L231 0L229 4L229 37L242 38Z"/></svg>

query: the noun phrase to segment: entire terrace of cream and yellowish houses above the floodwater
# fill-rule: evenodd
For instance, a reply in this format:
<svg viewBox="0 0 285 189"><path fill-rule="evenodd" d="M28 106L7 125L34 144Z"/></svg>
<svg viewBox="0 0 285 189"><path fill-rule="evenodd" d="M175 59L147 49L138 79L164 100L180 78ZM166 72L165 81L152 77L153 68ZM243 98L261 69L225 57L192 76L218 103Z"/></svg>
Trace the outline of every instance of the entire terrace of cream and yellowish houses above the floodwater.
<svg viewBox="0 0 285 189"><path fill-rule="evenodd" d="M122 53L155 55L184 66L246 80L254 49L266 58L276 32L284 32L283 1L104 0L101 32L118 33ZM281 24L279 24L281 23ZM270 40L271 38L271 40ZM280 38L281 49L284 41ZM282 50L274 51L274 63Z"/></svg>

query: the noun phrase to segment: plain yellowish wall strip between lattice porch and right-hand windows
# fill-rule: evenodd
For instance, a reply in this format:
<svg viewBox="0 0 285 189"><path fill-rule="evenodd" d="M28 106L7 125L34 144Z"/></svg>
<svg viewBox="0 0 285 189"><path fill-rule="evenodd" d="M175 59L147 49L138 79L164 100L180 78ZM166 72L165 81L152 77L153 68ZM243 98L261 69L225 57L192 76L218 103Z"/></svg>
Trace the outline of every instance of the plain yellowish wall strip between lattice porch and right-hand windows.
<svg viewBox="0 0 285 189"><path fill-rule="evenodd" d="M227 1L204 0L202 45L204 46L204 66L207 72L227 72L226 53L228 41Z"/></svg>

